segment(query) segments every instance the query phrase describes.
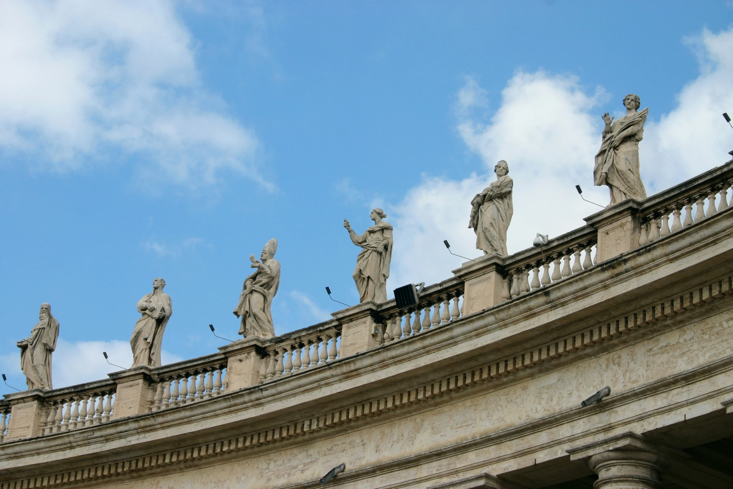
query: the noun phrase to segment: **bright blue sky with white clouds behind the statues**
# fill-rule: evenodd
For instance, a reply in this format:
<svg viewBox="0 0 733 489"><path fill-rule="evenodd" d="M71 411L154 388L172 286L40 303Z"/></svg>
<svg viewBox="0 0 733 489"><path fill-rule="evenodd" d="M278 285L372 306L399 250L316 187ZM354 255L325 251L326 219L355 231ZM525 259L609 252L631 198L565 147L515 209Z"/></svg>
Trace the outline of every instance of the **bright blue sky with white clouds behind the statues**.
<svg viewBox="0 0 733 489"><path fill-rule="evenodd" d="M605 111L649 107L649 194L727 161L732 7L704 2L4 2L0 5L0 366L42 302L54 386L130 361L136 301L166 279L164 361L216 351L249 254L279 240L276 331L358 302L380 206L388 290L478 254L471 196L515 180L509 252L594 212ZM129 356L128 359L125 356Z"/></svg>

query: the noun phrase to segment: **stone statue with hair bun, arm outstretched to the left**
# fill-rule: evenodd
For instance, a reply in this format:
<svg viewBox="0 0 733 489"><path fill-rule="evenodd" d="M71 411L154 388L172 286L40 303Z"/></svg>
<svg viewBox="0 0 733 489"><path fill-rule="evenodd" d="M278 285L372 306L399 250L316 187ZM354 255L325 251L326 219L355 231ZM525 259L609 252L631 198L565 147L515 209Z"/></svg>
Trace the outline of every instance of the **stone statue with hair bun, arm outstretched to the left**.
<svg viewBox="0 0 733 489"><path fill-rule="evenodd" d="M381 209L372 209L370 216L374 226L369 227L359 236L351 229L349 221L344 219L344 227L348 229L351 242L361 246L363 250L356 257L354 282L359 291L359 301L374 301L377 304L387 300L387 279L389 262L392 258L392 225L382 221L387 215Z"/></svg>

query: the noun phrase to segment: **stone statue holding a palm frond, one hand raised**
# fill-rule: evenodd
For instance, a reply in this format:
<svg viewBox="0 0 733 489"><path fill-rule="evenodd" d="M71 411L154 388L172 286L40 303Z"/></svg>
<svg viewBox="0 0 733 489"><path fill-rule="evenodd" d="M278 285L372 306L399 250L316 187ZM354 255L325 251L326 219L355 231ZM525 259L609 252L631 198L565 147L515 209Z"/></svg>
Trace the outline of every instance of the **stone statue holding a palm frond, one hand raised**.
<svg viewBox="0 0 733 489"><path fill-rule="evenodd" d="M649 109L637 112L641 106L638 95L630 93L624 98L626 115L614 122L603 114L603 143L595 158L593 168L594 185L608 185L611 203L625 199L644 200L647 191L639 174L639 141L644 134L644 122Z"/></svg>

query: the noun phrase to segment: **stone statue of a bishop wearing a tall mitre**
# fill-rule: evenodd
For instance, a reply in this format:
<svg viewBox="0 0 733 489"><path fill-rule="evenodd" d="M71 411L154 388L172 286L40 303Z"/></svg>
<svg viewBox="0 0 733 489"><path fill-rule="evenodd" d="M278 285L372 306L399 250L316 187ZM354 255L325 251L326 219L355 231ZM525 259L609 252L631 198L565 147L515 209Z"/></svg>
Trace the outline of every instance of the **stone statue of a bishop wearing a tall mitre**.
<svg viewBox="0 0 733 489"><path fill-rule="evenodd" d="M234 315L241 317L239 334L243 337L275 336L272 304L280 285L280 262L274 259L276 251L277 240L272 238L259 255L262 262L254 254L249 255L252 262L249 266L257 268L257 271L245 279L239 304L234 310Z"/></svg>

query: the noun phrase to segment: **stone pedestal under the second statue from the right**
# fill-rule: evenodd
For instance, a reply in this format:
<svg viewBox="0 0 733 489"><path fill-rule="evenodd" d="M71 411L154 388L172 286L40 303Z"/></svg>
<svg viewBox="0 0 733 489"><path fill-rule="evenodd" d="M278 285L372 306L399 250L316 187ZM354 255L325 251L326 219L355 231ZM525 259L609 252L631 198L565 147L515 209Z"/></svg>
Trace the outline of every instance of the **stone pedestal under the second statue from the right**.
<svg viewBox="0 0 733 489"><path fill-rule="evenodd" d="M504 290L504 259L498 254L481 257L474 262L465 262L453 271L463 280L463 315L501 304Z"/></svg>

